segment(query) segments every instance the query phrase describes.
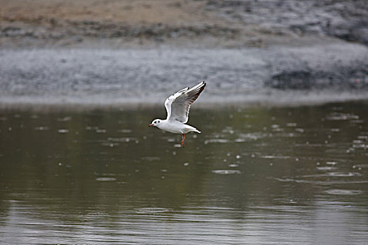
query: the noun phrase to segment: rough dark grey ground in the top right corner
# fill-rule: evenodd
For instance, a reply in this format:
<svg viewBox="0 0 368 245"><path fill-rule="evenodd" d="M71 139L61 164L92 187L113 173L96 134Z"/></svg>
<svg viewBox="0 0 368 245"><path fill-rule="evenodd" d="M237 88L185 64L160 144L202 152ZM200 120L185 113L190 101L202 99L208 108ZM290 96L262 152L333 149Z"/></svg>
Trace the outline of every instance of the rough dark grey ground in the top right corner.
<svg viewBox="0 0 368 245"><path fill-rule="evenodd" d="M330 36L368 44L368 5L364 0L207 1L226 20L253 25L264 34Z"/></svg>

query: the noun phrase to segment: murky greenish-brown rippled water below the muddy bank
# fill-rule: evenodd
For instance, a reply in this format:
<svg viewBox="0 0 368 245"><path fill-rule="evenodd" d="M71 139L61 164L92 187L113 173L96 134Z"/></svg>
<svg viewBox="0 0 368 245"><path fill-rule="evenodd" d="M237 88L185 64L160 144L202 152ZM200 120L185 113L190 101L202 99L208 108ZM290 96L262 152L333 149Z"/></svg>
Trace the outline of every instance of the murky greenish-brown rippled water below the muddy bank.
<svg viewBox="0 0 368 245"><path fill-rule="evenodd" d="M0 243L367 244L367 111L1 111Z"/></svg>

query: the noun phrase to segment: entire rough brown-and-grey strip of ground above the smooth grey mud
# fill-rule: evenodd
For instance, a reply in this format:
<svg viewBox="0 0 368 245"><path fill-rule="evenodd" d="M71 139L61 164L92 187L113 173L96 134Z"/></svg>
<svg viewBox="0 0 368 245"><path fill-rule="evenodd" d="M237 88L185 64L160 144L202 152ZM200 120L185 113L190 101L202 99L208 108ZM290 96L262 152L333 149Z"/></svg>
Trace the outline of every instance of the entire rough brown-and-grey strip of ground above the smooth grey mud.
<svg viewBox="0 0 368 245"><path fill-rule="evenodd" d="M354 1L0 0L0 48L265 47L368 43L368 7Z"/></svg>

